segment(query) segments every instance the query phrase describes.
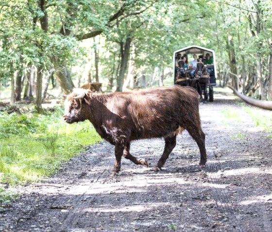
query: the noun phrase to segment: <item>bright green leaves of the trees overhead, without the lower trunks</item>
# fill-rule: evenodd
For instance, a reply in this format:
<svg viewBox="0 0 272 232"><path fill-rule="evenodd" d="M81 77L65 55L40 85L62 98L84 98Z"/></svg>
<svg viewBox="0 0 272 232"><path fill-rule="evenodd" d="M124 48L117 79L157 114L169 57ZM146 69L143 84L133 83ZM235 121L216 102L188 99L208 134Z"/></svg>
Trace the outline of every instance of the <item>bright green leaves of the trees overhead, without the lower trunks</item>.
<svg viewBox="0 0 272 232"><path fill-rule="evenodd" d="M260 25L256 25L253 2L260 12ZM9 83L15 70L23 73L27 64L41 69L54 64L58 71L68 67L74 81L85 77L82 73L90 62L90 73L94 76L94 44L82 41L82 35L94 31L101 31L96 49L102 48L99 68L103 82L109 77L116 78L121 42L127 37L132 38L135 76L151 77L155 67L172 68L173 51L190 45L214 49L218 70L229 75L227 42L232 40L238 75L243 68L247 77L255 75L256 64L252 59L258 54L263 79L267 82L267 60L272 52L271 0L229 0L228 4L211 0L58 0L55 4L48 0L46 15L39 3L1 1L0 80L3 84ZM41 27L44 16L48 18L47 30Z"/></svg>

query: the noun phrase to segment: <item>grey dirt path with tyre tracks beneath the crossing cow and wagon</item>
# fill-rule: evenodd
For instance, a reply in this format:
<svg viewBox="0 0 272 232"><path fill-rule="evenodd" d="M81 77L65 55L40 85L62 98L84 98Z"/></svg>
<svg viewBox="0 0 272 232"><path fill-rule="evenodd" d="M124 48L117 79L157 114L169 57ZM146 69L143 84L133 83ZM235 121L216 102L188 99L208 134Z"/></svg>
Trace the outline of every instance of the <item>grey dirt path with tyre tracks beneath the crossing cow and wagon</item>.
<svg viewBox="0 0 272 232"><path fill-rule="evenodd" d="M114 147L101 142L41 185L0 209L1 232L271 232L272 142L230 94L201 105L208 162L185 132L161 172L122 159L110 178ZM236 108L243 121L223 120ZM236 138L242 134L242 138ZM131 153L154 167L162 139L136 141Z"/></svg>

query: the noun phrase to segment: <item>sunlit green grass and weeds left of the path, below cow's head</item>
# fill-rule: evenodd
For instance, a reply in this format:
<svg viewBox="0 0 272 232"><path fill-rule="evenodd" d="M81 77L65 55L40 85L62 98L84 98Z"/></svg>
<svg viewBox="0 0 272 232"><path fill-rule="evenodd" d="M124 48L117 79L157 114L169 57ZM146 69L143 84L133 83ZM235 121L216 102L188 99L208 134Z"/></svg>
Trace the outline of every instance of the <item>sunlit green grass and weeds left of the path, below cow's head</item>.
<svg viewBox="0 0 272 232"><path fill-rule="evenodd" d="M46 115L0 112L0 204L15 196L4 186L38 182L100 140L88 121L65 124L62 115L61 107Z"/></svg>

